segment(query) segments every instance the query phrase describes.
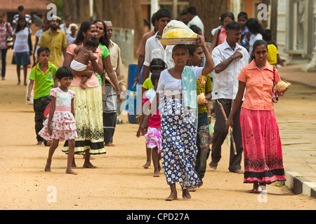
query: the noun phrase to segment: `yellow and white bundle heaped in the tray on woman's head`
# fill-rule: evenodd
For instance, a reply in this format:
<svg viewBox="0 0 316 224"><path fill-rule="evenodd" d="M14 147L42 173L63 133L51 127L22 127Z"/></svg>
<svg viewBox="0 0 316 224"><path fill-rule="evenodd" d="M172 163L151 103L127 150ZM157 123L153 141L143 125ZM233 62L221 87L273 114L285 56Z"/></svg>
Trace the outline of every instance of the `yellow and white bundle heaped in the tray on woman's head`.
<svg viewBox="0 0 316 224"><path fill-rule="evenodd" d="M183 22L178 20L171 20L162 33L162 38L195 38L195 34L192 29L187 27Z"/></svg>

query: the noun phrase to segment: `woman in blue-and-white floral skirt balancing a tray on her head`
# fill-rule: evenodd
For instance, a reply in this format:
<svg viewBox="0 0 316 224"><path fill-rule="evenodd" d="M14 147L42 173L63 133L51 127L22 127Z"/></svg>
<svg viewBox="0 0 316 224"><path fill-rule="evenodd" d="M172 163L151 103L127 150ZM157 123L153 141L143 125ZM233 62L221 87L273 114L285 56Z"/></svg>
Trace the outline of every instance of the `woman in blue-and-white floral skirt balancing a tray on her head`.
<svg viewBox="0 0 316 224"><path fill-rule="evenodd" d="M163 98L159 106L162 109L162 167L171 189L171 194L166 197L169 201L178 199L177 182L184 199L191 198L188 188L198 186L200 182L195 173L196 80L213 71L214 63L204 39L198 37L197 45L203 48L206 66L186 66L189 57L186 45L175 45L172 51L175 66L162 71L157 87L157 97Z"/></svg>

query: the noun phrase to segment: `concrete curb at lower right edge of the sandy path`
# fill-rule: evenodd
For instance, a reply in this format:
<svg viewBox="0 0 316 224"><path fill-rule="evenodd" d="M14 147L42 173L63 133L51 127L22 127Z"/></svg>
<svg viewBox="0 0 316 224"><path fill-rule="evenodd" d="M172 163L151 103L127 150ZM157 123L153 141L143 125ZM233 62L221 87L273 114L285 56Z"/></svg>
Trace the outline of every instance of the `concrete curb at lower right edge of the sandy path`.
<svg viewBox="0 0 316 224"><path fill-rule="evenodd" d="M316 198L316 183L303 178L301 174L296 172L285 172L285 186L294 192L294 194L308 195Z"/></svg>

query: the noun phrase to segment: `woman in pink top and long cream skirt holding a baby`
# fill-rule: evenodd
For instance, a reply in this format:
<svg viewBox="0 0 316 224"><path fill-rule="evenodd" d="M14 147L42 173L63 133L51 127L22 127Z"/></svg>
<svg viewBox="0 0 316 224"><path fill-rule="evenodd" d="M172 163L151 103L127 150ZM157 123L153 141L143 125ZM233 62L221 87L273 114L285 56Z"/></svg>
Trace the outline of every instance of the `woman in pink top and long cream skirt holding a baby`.
<svg viewBox="0 0 316 224"><path fill-rule="evenodd" d="M85 45L86 39L97 36L98 31L93 22L83 22L78 31L76 40L67 47L63 66L70 66L74 58L74 48ZM75 139L74 153L85 154L84 167L96 168L90 162L90 154L105 153L103 142L103 105L100 83L96 72L103 73L103 62L101 48L98 47L94 53L98 59L90 60L85 71L74 71L74 78L70 84L70 90L76 94L74 98L74 117L76 118L78 138ZM86 90L79 87L81 76L93 69L91 78L86 81ZM65 142L62 151L67 153L68 142ZM76 166L73 160L73 166Z"/></svg>

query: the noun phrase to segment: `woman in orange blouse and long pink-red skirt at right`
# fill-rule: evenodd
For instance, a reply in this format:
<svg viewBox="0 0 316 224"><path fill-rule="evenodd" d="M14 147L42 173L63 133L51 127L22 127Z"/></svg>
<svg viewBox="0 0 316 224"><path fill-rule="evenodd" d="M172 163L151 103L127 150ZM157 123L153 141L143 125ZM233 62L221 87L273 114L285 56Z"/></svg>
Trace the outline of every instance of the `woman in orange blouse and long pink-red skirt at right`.
<svg viewBox="0 0 316 224"><path fill-rule="evenodd" d="M267 43L263 40L256 41L250 64L242 68L237 78L239 90L226 121L227 127L233 125L232 118L244 96L240 112L244 148L244 183L254 183L254 188L249 190L249 193L258 193L259 185L286 181L279 128L272 104L274 69L268 63L267 55ZM279 80L279 73L275 70L275 82Z"/></svg>

